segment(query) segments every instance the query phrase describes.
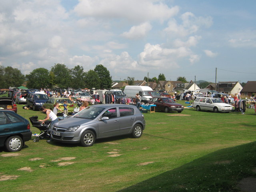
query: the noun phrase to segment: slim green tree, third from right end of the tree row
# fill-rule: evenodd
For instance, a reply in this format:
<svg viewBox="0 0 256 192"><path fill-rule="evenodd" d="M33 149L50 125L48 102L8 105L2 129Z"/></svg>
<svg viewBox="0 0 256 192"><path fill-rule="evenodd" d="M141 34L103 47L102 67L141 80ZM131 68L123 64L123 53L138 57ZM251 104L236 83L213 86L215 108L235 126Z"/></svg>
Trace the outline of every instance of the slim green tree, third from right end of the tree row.
<svg viewBox="0 0 256 192"><path fill-rule="evenodd" d="M85 75L84 68L82 66L75 66L71 69L72 84L74 89L85 88Z"/></svg>

